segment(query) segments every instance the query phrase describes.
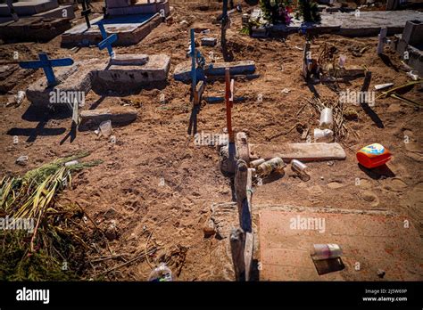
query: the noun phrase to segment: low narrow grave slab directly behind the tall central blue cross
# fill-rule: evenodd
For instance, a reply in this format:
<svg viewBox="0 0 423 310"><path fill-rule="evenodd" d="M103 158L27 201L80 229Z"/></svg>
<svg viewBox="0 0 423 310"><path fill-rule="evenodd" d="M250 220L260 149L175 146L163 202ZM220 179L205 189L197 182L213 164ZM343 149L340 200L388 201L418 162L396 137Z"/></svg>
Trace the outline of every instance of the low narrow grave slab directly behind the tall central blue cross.
<svg viewBox="0 0 423 310"><path fill-rule="evenodd" d="M212 67L204 69L206 76L225 76L225 69L229 68L230 75L252 74L255 71L254 61L233 61L233 62L217 62ZM173 77L177 81L187 83L191 80L191 61L184 61L178 64L173 73Z"/></svg>

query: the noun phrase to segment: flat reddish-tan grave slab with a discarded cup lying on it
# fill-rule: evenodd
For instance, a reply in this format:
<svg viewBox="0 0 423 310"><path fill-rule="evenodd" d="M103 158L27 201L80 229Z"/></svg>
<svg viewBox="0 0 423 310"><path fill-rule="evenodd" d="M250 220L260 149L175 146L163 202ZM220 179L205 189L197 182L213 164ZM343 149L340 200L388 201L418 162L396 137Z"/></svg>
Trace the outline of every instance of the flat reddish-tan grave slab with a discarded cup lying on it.
<svg viewBox="0 0 423 310"><path fill-rule="evenodd" d="M385 280L421 281L423 244L412 224L404 227L402 216L383 211L255 208L261 209L261 281L380 281L378 269L386 272ZM292 229L298 218L324 219L325 230ZM344 270L319 275L309 252L315 243L340 245ZM355 269L357 262L360 270Z"/></svg>

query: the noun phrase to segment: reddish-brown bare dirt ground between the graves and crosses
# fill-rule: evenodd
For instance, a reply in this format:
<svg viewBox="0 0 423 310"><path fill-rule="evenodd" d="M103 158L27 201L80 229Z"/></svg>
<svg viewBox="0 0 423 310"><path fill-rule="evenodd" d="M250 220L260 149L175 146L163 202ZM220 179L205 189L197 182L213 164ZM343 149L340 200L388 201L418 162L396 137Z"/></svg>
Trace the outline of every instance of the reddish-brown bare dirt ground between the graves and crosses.
<svg viewBox="0 0 423 310"><path fill-rule="evenodd" d="M94 5L95 12L101 12L102 4ZM93 104L104 108L125 103L137 108L136 122L114 128L116 144L97 138L92 131L79 132L72 143L69 139L63 142L71 129L71 118L31 110L27 100L18 108L6 108L7 95L2 95L0 174L23 174L57 157L79 150L92 151L89 159L103 159L104 163L75 175L73 188L62 194L60 203L77 201L100 227L116 220L119 238L110 243L115 253L130 255L154 245L158 251L149 257L149 261L166 261L178 281L218 280L219 276L212 273L211 252L221 241L214 237L204 238L203 225L210 216L212 203L231 201L230 180L220 173L216 148L195 146L193 137L187 135L191 111L189 86L175 81L171 74L178 63L187 61L188 29L211 29L207 37L220 37L220 26L212 24L220 14L220 4L211 5L208 10L184 1L172 5L173 23L162 23L138 45L114 49L115 53L168 54L171 59L168 85L127 97L101 98L93 92L87 95L87 108ZM245 4L244 8L246 10L248 6ZM187 23L181 23L182 20ZM82 20L79 18L78 22ZM260 77L236 81L236 95L245 96L246 101L234 105L235 131L245 131L250 143L304 142L297 130L290 129L298 123L310 130L319 125L319 115L306 102L312 97L311 89L301 76L304 37L292 35L285 41L254 39L240 34L240 29L241 13L235 12L228 30L229 47L235 61L255 61ZM33 60L41 51L51 58L71 57L73 60L108 57L105 51L99 51L95 46L70 50L61 48L60 42L61 37L56 37L46 44L1 45L1 59L2 62L12 60L14 51L20 52L22 60ZM318 52L319 45L324 43L336 45L336 58L344 54L348 64L366 66L371 70L370 88L389 82L401 86L410 80L399 69L400 60L396 54L386 53L392 61L390 65L377 57L376 37L322 35L315 38L311 51ZM369 48L361 57L354 57L349 49L351 46ZM209 52L222 61L218 46L200 49L207 61L210 60ZM13 92L25 90L43 75L38 70L22 79ZM362 82L363 78L358 78L351 85L340 84L340 87L360 90ZM222 82L209 84L205 95L223 94L224 88ZM289 90L287 94L282 92L284 88ZM337 97L326 85L315 88L323 98ZM161 94L165 96L164 104L160 101ZM420 90L414 87L406 96L422 102L421 86ZM284 177L256 188L253 205L386 209L410 218L411 225L423 236L421 110L395 99L380 99L373 108L380 118L375 123L360 106L352 108L359 118L347 121L349 134L340 141L347 154L346 160L336 161L333 165L326 161L310 163L311 180L307 183L293 177L286 168ZM45 128L59 128L59 135L44 135L43 124ZM220 134L225 126L223 103L203 106L198 115L199 132ZM28 142L28 135L19 135L19 143L13 144L12 135L15 134L11 133L23 132L17 130L22 128L36 133L35 139ZM278 134L282 135L272 138ZM405 143L407 139L409 143ZM355 151L369 143L381 143L394 154L387 170L372 173L357 165ZM29 156L25 167L15 164L15 159L21 155ZM361 180L359 186L356 185L357 178ZM110 260L104 265L118 263ZM120 268L119 272L110 273L109 279L145 281L150 271L148 262L140 260Z"/></svg>

